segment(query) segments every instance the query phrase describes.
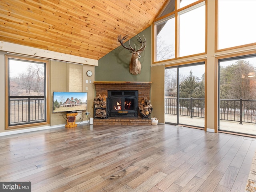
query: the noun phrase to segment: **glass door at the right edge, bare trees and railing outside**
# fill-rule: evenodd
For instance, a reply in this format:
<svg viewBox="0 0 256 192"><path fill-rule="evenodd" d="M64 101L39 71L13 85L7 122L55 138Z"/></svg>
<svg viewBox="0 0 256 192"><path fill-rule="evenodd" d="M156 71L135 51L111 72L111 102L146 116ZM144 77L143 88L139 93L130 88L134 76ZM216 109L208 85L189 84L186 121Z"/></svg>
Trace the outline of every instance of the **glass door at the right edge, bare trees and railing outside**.
<svg viewBox="0 0 256 192"><path fill-rule="evenodd" d="M256 135L256 54L219 60L218 129Z"/></svg>

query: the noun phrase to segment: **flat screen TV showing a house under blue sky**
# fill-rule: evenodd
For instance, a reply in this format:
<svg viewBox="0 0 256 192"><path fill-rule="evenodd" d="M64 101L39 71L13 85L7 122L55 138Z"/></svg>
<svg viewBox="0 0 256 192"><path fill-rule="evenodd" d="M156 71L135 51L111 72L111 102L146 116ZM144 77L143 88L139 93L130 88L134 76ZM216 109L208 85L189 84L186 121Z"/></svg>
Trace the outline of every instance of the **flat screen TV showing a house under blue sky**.
<svg viewBox="0 0 256 192"><path fill-rule="evenodd" d="M53 92L53 112L69 113L87 110L87 92Z"/></svg>

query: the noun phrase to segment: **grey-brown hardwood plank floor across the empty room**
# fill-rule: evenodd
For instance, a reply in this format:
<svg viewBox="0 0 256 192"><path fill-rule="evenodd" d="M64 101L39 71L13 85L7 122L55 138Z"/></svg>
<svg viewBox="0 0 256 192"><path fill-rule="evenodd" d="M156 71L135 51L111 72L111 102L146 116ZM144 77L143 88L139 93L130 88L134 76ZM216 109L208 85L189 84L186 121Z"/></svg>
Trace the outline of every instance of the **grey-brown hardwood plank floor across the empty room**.
<svg viewBox="0 0 256 192"><path fill-rule="evenodd" d="M243 192L256 140L85 124L2 136L0 147L0 181L30 181L32 192Z"/></svg>

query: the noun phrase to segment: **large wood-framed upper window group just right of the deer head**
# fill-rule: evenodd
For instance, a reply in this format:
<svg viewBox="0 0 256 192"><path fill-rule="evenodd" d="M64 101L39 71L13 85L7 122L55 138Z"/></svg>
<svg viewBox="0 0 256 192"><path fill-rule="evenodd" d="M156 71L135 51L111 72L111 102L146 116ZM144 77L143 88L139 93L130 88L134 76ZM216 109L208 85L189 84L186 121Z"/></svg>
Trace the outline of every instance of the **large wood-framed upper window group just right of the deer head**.
<svg viewBox="0 0 256 192"><path fill-rule="evenodd" d="M176 0L175 3L174 11L154 22L154 62L206 52L205 1ZM170 5L174 6L173 1L170 1Z"/></svg>

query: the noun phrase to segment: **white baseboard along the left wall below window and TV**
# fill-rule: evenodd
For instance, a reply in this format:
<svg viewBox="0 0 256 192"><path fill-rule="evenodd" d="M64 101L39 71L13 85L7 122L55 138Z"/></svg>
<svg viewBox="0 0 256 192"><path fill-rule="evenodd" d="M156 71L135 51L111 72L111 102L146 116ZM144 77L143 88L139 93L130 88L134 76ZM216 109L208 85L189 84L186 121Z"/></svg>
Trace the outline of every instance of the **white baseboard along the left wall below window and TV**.
<svg viewBox="0 0 256 192"><path fill-rule="evenodd" d="M89 124L87 120L79 122L79 124L85 124L85 123ZM54 129L54 128L59 128L59 127L65 127L65 124L54 125L54 126L42 126L42 127L36 127L36 128L30 128L30 129L22 129L22 130L13 130L13 131L2 132L2 133L0 133L0 137L1 136L6 136L6 135L13 135L13 134L19 134L19 133L32 132L32 131Z"/></svg>

